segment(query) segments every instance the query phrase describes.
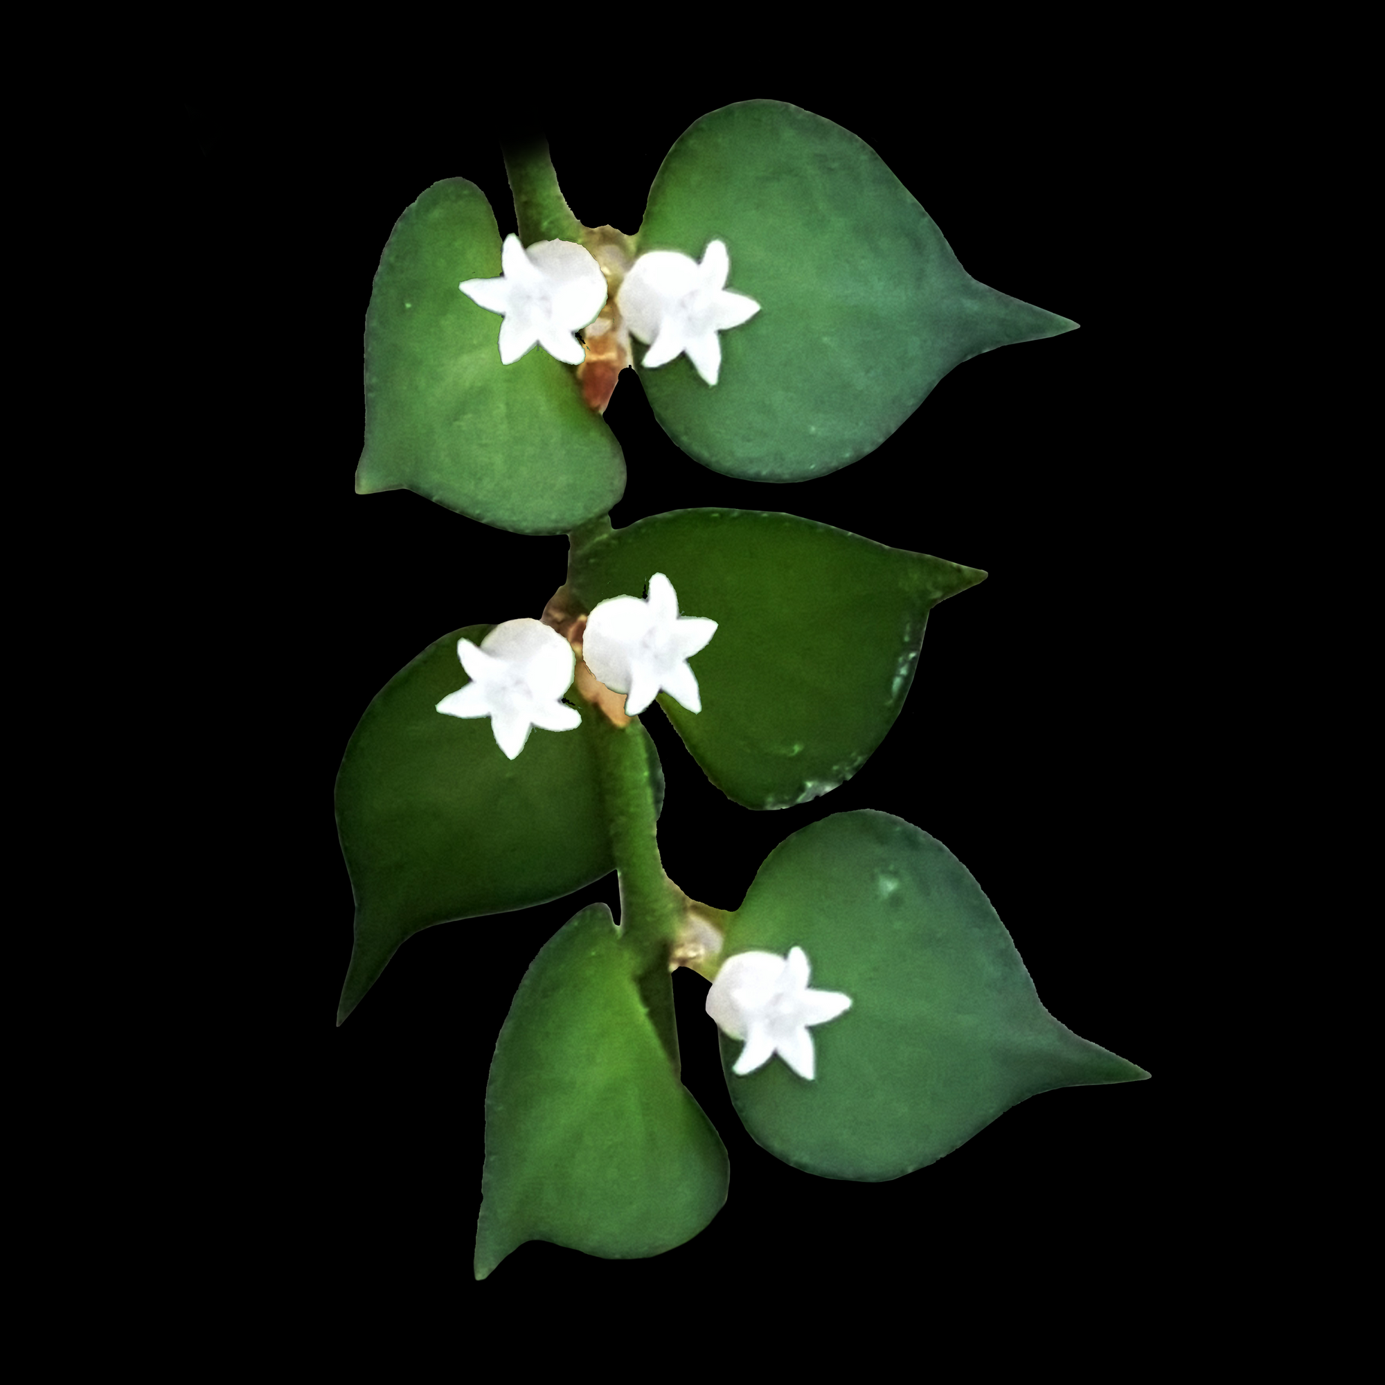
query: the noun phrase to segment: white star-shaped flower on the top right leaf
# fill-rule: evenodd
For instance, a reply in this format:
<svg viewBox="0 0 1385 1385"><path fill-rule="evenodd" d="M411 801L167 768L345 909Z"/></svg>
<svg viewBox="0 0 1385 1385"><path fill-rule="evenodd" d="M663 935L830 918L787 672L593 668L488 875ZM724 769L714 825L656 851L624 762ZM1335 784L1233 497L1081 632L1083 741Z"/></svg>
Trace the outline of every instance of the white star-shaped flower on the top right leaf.
<svg viewBox="0 0 1385 1385"><path fill-rule="evenodd" d="M641 368L654 370L686 352L697 373L715 385L722 370L717 332L749 321L760 305L726 288L731 269L723 241L711 241L698 265L677 251L650 251L625 276L616 306L625 325L648 342Z"/></svg>

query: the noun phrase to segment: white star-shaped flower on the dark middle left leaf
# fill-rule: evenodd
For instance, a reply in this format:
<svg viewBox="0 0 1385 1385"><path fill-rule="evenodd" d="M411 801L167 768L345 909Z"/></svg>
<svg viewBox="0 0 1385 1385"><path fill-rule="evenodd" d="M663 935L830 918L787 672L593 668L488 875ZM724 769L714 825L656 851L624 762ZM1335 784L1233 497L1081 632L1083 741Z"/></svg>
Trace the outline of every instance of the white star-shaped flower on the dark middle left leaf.
<svg viewBox="0 0 1385 1385"><path fill-rule="evenodd" d="M506 620L479 645L458 640L457 658L471 681L449 692L438 711L489 716L496 745L510 759L524 749L533 726L571 731L582 724L578 709L558 701L572 687L572 645L542 620Z"/></svg>

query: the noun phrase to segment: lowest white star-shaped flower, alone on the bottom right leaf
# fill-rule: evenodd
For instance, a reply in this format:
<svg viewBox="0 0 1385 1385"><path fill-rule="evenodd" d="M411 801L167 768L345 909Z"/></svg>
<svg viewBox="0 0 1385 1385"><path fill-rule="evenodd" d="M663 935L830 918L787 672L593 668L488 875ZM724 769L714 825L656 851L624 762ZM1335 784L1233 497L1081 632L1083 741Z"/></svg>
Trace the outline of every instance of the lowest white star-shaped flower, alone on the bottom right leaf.
<svg viewBox="0 0 1385 1385"><path fill-rule="evenodd" d="M813 1080L813 1036L809 1025L827 1024L850 1008L839 990L807 989L807 956L791 947L776 953L737 953L727 957L706 993L706 1012L733 1039L744 1039L737 1076L778 1055L801 1076Z"/></svg>

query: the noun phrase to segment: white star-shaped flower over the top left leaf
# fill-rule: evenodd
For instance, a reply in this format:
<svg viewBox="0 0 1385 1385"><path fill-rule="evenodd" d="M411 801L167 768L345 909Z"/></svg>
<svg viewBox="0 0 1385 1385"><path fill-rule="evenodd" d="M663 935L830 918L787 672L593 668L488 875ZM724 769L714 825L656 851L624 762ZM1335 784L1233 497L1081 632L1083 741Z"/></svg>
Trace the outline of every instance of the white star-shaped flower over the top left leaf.
<svg viewBox="0 0 1385 1385"><path fill-rule="evenodd" d="M500 324L500 363L517 361L535 342L550 356L580 366L582 342L572 334L605 307L605 276L575 241L535 241L528 249L511 233L500 248L500 278L468 278L457 287Z"/></svg>

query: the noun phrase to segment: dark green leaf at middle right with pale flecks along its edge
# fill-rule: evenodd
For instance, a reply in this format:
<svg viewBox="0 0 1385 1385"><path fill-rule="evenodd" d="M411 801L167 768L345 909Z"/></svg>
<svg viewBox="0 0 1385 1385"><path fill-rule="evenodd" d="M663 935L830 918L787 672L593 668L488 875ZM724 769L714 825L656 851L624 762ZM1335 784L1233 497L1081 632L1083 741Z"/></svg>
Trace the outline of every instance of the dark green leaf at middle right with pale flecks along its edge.
<svg viewBox="0 0 1385 1385"><path fill-rule="evenodd" d="M688 666L702 711L659 704L708 778L745 807L788 807L850 778L914 680L924 623L975 568L753 510L676 510L576 550L582 607L644 596L662 572L679 612L717 622Z"/></svg>

